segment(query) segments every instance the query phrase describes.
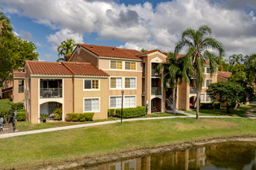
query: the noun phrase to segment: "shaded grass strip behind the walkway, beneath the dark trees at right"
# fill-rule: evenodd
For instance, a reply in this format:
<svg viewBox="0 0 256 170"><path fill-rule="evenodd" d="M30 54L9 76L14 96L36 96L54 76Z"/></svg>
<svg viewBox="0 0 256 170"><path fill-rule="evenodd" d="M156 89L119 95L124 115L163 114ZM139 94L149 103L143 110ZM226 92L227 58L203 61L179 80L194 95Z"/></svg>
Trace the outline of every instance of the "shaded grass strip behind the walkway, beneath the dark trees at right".
<svg viewBox="0 0 256 170"><path fill-rule="evenodd" d="M230 114L227 114L226 108L222 109L200 109L199 110L199 116L234 116L234 117L246 117L244 112L247 109L250 109L252 107L256 107L255 104L245 105L242 107L239 107L237 110L230 110ZM196 114L196 110L187 110L185 113L188 114Z"/></svg>

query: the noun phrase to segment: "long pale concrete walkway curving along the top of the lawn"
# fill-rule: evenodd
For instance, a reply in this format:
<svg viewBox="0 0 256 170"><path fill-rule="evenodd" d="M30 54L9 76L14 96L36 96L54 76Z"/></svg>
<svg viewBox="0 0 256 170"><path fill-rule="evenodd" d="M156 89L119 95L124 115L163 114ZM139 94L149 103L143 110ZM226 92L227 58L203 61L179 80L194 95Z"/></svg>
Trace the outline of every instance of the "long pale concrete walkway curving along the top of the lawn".
<svg viewBox="0 0 256 170"><path fill-rule="evenodd" d="M149 121L149 120L158 120L158 119L174 119L174 118L186 118L186 117L195 117L195 115L189 114L187 116L130 118L130 119L124 119L123 121ZM244 118L244 117L230 117L230 116L200 116L200 117L202 118L203 117ZM70 125L70 126L57 127L57 128L40 129L40 130L34 130L34 131L21 131L16 133L0 134L0 138L10 138L10 137L22 136L26 134L40 134L43 132L62 131L62 130L74 129L74 128L87 128L87 127L94 127L94 126L100 126L105 124L116 124L120 122L121 122L120 120L102 121L102 122L91 123L91 124L77 124L77 125Z"/></svg>

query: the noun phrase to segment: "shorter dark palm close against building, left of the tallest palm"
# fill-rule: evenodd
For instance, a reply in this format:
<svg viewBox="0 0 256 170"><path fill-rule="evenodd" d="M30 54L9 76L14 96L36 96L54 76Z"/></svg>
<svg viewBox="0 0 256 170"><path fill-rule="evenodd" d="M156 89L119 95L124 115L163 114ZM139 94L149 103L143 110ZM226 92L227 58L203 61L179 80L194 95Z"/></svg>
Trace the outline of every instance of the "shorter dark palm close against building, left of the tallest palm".
<svg viewBox="0 0 256 170"><path fill-rule="evenodd" d="M171 87L172 89L173 114L175 114L176 110L178 84L182 83L183 79L189 82L189 73L192 73L192 66L190 64L191 62L189 62L187 56L177 59L174 53L168 53L168 62L161 63L158 67L158 70L161 68L164 71L164 88L168 89L168 87Z"/></svg>

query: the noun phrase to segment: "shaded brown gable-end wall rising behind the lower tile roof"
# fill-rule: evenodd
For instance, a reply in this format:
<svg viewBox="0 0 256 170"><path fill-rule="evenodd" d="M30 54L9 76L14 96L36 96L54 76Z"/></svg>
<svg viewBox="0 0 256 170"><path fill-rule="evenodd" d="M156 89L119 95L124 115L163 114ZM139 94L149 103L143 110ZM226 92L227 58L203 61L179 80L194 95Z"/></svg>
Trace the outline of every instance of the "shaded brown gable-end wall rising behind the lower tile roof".
<svg viewBox="0 0 256 170"><path fill-rule="evenodd" d="M69 61L88 62L88 63L92 63L92 65L98 67L98 59L91 53L86 52L85 49L81 46L78 46L75 49L75 51L72 54L71 59L69 59Z"/></svg>

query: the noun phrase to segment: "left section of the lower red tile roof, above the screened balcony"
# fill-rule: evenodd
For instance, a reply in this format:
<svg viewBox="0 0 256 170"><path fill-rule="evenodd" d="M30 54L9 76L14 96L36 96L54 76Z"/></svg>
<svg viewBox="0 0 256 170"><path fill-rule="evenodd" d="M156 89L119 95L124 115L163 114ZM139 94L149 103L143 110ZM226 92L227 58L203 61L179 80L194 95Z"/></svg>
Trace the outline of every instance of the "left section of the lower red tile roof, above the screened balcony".
<svg viewBox="0 0 256 170"><path fill-rule="evenodd" d="M30 74L71 76L72 73L59 62L26 61Z"/></svg>

